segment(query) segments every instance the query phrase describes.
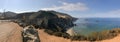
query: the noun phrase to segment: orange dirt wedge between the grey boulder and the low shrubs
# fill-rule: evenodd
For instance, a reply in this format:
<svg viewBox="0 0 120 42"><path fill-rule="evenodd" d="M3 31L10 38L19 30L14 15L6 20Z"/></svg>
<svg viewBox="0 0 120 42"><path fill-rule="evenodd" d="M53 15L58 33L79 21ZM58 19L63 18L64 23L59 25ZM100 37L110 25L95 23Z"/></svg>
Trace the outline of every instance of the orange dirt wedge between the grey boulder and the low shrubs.
<svg viewBox="0 0 120 42"><path fill-rule="evenodd" d="M69 39L48 35L44 30L38 30L41 42L71 42Z"/></svg>

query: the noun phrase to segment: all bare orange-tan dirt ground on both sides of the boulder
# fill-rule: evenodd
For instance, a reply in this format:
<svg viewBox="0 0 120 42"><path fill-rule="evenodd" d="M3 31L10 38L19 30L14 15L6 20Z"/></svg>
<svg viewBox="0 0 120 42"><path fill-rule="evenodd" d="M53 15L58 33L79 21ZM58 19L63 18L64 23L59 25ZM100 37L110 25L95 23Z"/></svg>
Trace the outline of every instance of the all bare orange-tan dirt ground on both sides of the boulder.
<svg viewBox="0 0 120 42"><path fill-rule="evenodd" d="M0 42L22 42L21 36L22 28L13 22L0 23ZM89 42L89 41L71 41L70 39L65 39L62 37L56 37L49 35L44 32L44 30L38 30L41 42ZM120 35L102 41L96 42L120 42Z"/></svg>

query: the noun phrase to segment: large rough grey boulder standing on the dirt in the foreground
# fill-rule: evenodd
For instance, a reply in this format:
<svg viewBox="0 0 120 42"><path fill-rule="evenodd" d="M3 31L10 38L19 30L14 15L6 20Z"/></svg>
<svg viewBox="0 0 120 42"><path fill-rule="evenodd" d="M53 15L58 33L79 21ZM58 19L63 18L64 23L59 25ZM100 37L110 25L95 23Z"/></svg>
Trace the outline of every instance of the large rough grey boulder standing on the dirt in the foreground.
<svg viewBox="0 0 120 42"><path fill-rule="evenodd" d="M23 42L40 42L38 31L31 25L22 31Z"/></svg>

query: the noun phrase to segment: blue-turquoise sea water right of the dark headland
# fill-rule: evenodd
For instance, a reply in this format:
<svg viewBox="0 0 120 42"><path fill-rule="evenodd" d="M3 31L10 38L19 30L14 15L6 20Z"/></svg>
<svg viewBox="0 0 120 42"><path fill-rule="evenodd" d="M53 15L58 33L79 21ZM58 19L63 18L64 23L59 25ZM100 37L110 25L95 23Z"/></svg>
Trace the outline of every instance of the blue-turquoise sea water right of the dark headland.
<svg viewBox="0 0 120 42"><path fill-rule="evenodd" d="M74 31L81 35L120 28L120 18L79 18L75 23Z"/></svg>

